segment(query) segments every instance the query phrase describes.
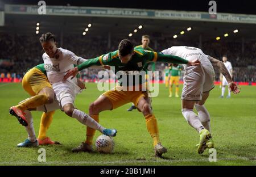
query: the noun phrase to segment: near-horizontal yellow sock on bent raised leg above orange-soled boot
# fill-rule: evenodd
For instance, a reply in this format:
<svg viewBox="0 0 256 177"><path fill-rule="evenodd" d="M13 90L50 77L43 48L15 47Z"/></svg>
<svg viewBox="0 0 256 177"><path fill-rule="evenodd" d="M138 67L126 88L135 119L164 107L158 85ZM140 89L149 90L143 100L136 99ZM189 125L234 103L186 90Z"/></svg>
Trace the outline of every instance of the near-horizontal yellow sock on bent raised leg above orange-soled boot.
<svg viewBox="0 0 256 177"><path fill-rule="evenodd" d="M16 107L22 111L25 111L29 108L36 108L46 103L47 103L46 95L35 95L35 96L32 96L30 99L18 104Z"/></svg>

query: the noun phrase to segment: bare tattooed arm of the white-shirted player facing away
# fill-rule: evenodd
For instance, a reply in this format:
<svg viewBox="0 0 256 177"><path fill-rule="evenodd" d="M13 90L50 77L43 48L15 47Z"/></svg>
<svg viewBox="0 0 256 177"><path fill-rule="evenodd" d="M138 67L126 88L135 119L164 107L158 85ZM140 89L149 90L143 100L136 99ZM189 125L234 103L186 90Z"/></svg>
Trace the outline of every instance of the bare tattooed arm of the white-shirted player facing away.
<svg viewBox="0 0 256 177"><path fill-rule="evenodd" d="M229 74L228 69L226 69L226 66L224 65L224 63L210 56L208 57L208 59L210 60L212 65L216 66L220 70L221 74L224 75L224 77L226 78L226 81L228 81L229 83L229 90L233 91L234 94L240 93L241 88L238 88L237 84L232 81L232 77Z"/></svg>

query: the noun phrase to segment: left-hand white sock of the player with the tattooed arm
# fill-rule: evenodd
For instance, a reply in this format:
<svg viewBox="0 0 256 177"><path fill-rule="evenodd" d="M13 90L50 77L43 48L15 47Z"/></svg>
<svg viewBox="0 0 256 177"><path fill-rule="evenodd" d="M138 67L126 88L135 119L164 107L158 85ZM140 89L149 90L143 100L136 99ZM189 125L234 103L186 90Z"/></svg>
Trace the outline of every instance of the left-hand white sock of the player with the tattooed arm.
<svg viewBox="0 0 256 177"><path fill-rule="evenodd" d="M195 112L193 112L193 109L181 109L182 115L187 120L188 124L191 125L191 127L195 128L197 132L201 132L201 130L204 129L203 124L201 123L199 116L196 115Z"/></svg>

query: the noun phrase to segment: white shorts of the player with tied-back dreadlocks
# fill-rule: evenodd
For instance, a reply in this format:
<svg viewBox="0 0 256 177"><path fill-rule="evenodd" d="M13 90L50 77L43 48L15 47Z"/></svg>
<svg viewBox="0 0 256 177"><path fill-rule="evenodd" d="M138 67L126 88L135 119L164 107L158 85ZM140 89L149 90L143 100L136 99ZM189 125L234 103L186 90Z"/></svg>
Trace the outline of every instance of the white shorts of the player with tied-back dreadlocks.
<svg viewBox="0 0 256 177"><path fill-rule="evenodd" d="M81 88L79 86L68 81L54 83L52 87L61 108L68 103L74 105L76 95L81 92Z"/></svg>

